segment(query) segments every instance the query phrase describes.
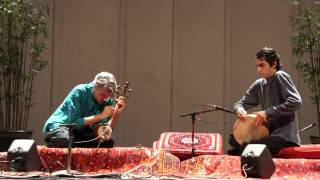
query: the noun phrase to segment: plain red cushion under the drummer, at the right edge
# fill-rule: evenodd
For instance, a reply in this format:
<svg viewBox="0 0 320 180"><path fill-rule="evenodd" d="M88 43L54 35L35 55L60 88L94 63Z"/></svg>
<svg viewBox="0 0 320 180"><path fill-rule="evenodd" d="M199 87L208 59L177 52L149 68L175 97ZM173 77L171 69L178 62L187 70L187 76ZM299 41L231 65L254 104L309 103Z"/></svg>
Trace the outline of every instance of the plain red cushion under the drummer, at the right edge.
<svg viewBox="0 0 320 180"><path fill-rule="evenodd" d="M300 147L281 149L276 157L320 159L320 144L306 144Z"/></svg>

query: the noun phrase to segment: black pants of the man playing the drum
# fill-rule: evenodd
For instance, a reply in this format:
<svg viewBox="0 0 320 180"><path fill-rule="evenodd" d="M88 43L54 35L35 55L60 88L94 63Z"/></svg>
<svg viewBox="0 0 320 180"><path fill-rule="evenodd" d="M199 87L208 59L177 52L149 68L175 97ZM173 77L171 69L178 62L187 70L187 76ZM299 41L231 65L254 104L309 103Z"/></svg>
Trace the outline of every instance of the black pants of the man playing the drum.
<svg viewBox="0 0 320 180"><path fill-rule="evenodd" d="M243 143L242 145L240 145L234 138L233 134L231 134L229 137L229 144L232 146L233 149L229 150L228 154L234 156L240 156L242 151L248 144L265 144L272 155L277 154L282 148L299 146L295 143L288 142L280 137L274 136L270 136L268 138L263 138L259 140L251 140L247 143Z"/></svg>

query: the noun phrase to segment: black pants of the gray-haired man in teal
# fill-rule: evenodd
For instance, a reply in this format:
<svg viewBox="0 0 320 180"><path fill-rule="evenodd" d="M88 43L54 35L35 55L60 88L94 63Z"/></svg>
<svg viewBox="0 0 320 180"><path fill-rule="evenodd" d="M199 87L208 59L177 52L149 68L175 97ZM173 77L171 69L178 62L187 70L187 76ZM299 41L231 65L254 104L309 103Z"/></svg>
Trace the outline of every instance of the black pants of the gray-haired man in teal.
<svg viewBox="0 0 320 180"><path fill-rule="evenodd" d="M45 134L45 142L47 143L48 147L66 148L69 145L68 137L69 130L65 127L60 127L53 132ZM71 130L72 147L96 148L99 145L99 147L112 148L114 146L113 139L104 141L102 143L99 142L99 139L89 141L94 138L96 138L96 136L93 133L84 133L83 129Z"/></svg>

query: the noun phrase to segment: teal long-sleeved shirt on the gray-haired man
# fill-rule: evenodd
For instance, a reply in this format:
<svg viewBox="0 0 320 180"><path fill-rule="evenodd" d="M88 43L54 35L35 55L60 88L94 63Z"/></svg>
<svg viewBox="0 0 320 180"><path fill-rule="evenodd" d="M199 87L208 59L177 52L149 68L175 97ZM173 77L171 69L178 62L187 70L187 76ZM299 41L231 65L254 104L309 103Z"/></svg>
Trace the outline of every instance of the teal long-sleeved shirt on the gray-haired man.
<svg viewBox="0 0 320 180"><path fill-rule="evenodd" d="M98 104L93 96L93 84L77 85L62 104L49 117L43 127L43 133L51 132L61 124L84 124L84 118L100 114L105 106L113 105L113 99L108 98L103 104ZM106 124L109 118L97 124Z"/></svg>

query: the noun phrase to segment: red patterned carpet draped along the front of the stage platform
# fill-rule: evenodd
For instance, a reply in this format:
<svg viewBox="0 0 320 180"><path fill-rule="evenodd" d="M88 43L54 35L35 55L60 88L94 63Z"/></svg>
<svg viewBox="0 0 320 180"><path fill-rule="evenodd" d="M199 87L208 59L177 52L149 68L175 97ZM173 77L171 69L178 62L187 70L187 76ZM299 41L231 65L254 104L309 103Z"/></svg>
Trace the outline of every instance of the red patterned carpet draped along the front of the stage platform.
<svg viewBox="0 0 320 180"><path fill-rule="evenodd" d="M43 176L65 169L67 149L38 146L43 162ZM6 159L6 153L0 153ZM320 159L274 158L276 170L271 179L320 179ZM4 164L0 166L2 170ZM87 175L118 174L119 178L210 178L244 179L240 157L200 155L180 161L178 157L151 148L72 149L72 169Z"/></svg>

